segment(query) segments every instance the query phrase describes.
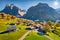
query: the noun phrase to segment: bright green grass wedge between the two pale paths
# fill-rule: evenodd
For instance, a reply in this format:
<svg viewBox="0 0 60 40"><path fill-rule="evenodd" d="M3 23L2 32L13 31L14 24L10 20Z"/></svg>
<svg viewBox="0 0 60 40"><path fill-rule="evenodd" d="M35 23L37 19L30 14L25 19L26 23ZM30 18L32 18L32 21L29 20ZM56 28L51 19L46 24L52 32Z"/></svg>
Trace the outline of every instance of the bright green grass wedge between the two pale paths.
<svg viewBox="0 0 60 40"><path fill-rule="evenodd" d="M32 31L24 40L49 40L45 36Z"/></svg>

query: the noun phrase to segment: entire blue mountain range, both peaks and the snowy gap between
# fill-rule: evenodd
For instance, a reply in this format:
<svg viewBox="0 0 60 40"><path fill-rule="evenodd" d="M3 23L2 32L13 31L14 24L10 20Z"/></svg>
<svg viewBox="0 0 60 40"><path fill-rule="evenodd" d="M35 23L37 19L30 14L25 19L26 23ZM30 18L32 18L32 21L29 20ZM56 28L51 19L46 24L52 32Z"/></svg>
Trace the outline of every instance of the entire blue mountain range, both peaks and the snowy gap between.
<svg viewBox="0 0 60 40"><path fill-rule="evenodd" d="M27 11L21 10L14 4L7 4L1 12L29 20L56 21L60 19L59 12L46 3L39 3L36 6L30 7Z"/></svg>

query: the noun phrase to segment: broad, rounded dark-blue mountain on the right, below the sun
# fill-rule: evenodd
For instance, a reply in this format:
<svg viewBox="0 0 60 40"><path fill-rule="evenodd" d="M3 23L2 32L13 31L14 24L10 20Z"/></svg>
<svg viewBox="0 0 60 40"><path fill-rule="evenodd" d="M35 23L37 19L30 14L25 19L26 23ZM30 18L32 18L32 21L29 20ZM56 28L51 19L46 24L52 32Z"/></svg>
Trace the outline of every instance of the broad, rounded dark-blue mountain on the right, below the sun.
<svg viewBox="0 0 60 40"><path fill-rule="evenodd" d="M39 3L36 6L30 7L24 18L39 21L55 21L59 20L60 14L55 9L49 7L48 4Z"/></svg>

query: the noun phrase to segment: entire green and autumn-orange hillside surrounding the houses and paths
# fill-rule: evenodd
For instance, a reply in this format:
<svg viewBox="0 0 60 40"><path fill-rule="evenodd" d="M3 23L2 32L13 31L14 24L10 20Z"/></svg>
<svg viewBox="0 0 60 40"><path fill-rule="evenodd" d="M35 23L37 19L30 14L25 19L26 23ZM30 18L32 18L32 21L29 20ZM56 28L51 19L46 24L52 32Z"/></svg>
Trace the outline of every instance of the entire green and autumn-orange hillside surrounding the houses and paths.
<svg viewBox="0 0 60 40"><path fill-rule="evenodd" d="M9 15L9 14L0 14L0 32L4 32L7 30L8 27L11 27L10 24L15 23L16 24L16 30L4 34L0 34L0 40L18 40L24 35L28 30L29 24L32 24L34 27L36 24L40 24L43 27L43 30L45 30L48 34L48 36L54 40L60 40L60 24L57 22L34 22L32 20L27 20L23 18L17 18L15 16ZM40 27L39 27L40 28ZM38 28L38 29L39 29ZM54 32L52 32L52 30ZM45 34L46 35L46 34ZM24 40L49 40L46 36L38 34L35 31L31 31Z"/></svg>

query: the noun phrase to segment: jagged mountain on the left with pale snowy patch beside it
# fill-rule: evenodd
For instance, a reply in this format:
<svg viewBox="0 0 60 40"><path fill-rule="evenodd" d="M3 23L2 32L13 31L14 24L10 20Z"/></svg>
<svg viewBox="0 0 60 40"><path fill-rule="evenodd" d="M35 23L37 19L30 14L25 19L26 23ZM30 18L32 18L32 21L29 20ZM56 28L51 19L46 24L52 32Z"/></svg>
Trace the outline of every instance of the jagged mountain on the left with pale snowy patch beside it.
<svg viewBox="0 0 60 40"><path fill-rule="evenodd" d="M14 4L7 4L6 7L1 12L4 12L6 14L10 14L13 16L17 16L17 17L21 17L26 13L25 10L21 10L20 8L18 8Z"/></svg>

